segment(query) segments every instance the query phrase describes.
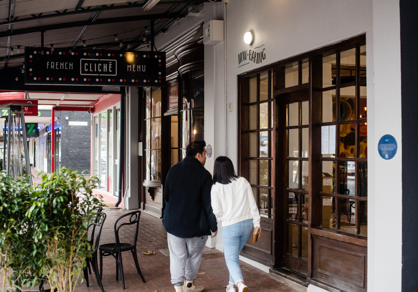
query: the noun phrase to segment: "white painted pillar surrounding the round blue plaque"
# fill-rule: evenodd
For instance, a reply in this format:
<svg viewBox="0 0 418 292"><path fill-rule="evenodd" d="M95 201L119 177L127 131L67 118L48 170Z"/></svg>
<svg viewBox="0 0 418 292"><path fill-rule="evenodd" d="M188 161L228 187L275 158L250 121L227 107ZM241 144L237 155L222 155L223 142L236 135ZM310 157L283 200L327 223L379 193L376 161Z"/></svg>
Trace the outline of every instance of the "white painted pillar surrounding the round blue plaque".
<svg viewBox="0 0 418 292"><path fill-rule="evenodd" d="M369 194L373 194L368 199L369 291L401 291L402 145L399 13L399 0L373 0L374 98L367 101L368 104L371 103L370 109L373 109L370 112L370 122L367 123L370 133L367 137L368 143L372 145L368 152L368 188ZM367 85L369 84L370 82ZM367 115L368 113L367 110ZM377 144L385 134L391 134L398 142L398 151L391 160L384 160L377 152Z"/></svg>

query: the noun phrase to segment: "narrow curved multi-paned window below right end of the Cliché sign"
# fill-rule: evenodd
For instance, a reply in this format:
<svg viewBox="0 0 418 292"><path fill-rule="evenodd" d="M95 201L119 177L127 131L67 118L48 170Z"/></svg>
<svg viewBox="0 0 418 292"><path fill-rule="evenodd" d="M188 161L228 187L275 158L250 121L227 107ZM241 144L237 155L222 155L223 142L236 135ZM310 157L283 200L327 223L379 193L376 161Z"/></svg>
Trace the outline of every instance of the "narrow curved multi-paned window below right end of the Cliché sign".
<svg viewBox="0 0 418 292"><path fill-rule="evenodd" d="M161 89L145 91L145 181L161 181Z"/></svg>

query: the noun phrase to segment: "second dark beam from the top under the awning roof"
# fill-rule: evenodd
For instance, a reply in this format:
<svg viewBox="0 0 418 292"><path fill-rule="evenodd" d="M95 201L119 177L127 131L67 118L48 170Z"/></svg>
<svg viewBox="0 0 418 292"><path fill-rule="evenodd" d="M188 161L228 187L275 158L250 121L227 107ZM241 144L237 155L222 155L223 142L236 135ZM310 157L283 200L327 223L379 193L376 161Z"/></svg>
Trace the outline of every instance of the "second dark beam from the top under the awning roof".
<svg viewBox="0 0 418 292"><path fill-rule="evenodd" d="M181 14L171 15L170 18L180 18ZM78 26L86 26L86 25L96 25L96 24L107 24L107 23L118 23L118 22L128 22L128 21L138 21L138 20L150 20L156 18L169 18L167 14L148 14L148 15L134 15L134 16L124 16L124 17L114 17L114 18L101 18L96 19L93 23L90 23L90 20L82 20L82 21L73 21L73 22L64 22L58 24L50 24L50 25L42 25L37 27L28 27L28 28L21 28L14 30L12 32L0 32L0 37L8 37L17 36L17 35L25 35L31 34L35 32L42 32L42 31L51 31L57 29L64 29L64 28L71 28L71 27L78 27Z"/></svg>

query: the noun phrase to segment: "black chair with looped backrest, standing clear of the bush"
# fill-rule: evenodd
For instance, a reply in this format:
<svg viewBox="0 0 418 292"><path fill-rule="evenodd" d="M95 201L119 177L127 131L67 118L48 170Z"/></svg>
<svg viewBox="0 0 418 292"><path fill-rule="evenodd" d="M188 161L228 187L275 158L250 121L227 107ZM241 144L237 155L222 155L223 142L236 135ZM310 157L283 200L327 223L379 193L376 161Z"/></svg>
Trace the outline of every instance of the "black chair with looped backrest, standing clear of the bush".
<svg viewBox="0 0 418 292"><path fill-rule="evenodd" d="M123 264L122 264L122 252L131 251L132 256L134 257L135 266L137 267L137 272L141 276L142 282L145 283L144 276L141 273L141 269L139 268L138 264L138 256L137 256L137 239L138 239L138 228L139 228L139 217L141 215L141 211L134 211L129 212L125 215L122 215L118 219L116 219L114 229L115 229L115 239L116 242L114 243L107 243L102 244L99 246L99 253L100 253L100 278L102 278L102 267L103 267L103 256L113 256L116 260L116 280L119 279L119 272L121 273L122 279L122 289L125 289L125 279L123 277ZM128 222L120 222L122 219L129 217ZM131 243L122 243L119 240L119 230L122 226L126 225L134 225L135 227L135 236L134 242Z"/></svg>

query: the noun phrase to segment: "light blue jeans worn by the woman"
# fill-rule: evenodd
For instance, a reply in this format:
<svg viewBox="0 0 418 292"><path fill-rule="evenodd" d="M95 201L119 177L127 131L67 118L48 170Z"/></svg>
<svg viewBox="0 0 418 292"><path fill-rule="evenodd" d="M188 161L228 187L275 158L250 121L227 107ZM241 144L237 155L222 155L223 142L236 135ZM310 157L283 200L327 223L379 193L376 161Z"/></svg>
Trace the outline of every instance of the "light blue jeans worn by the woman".
<svg viewBox="0 0 418 292"><path fill-rule="evenodd" d="M239 255L251 234L252 228L253 219L247 219L222 228L224 255L229 271L229 285L244 282Z"/></svg>

